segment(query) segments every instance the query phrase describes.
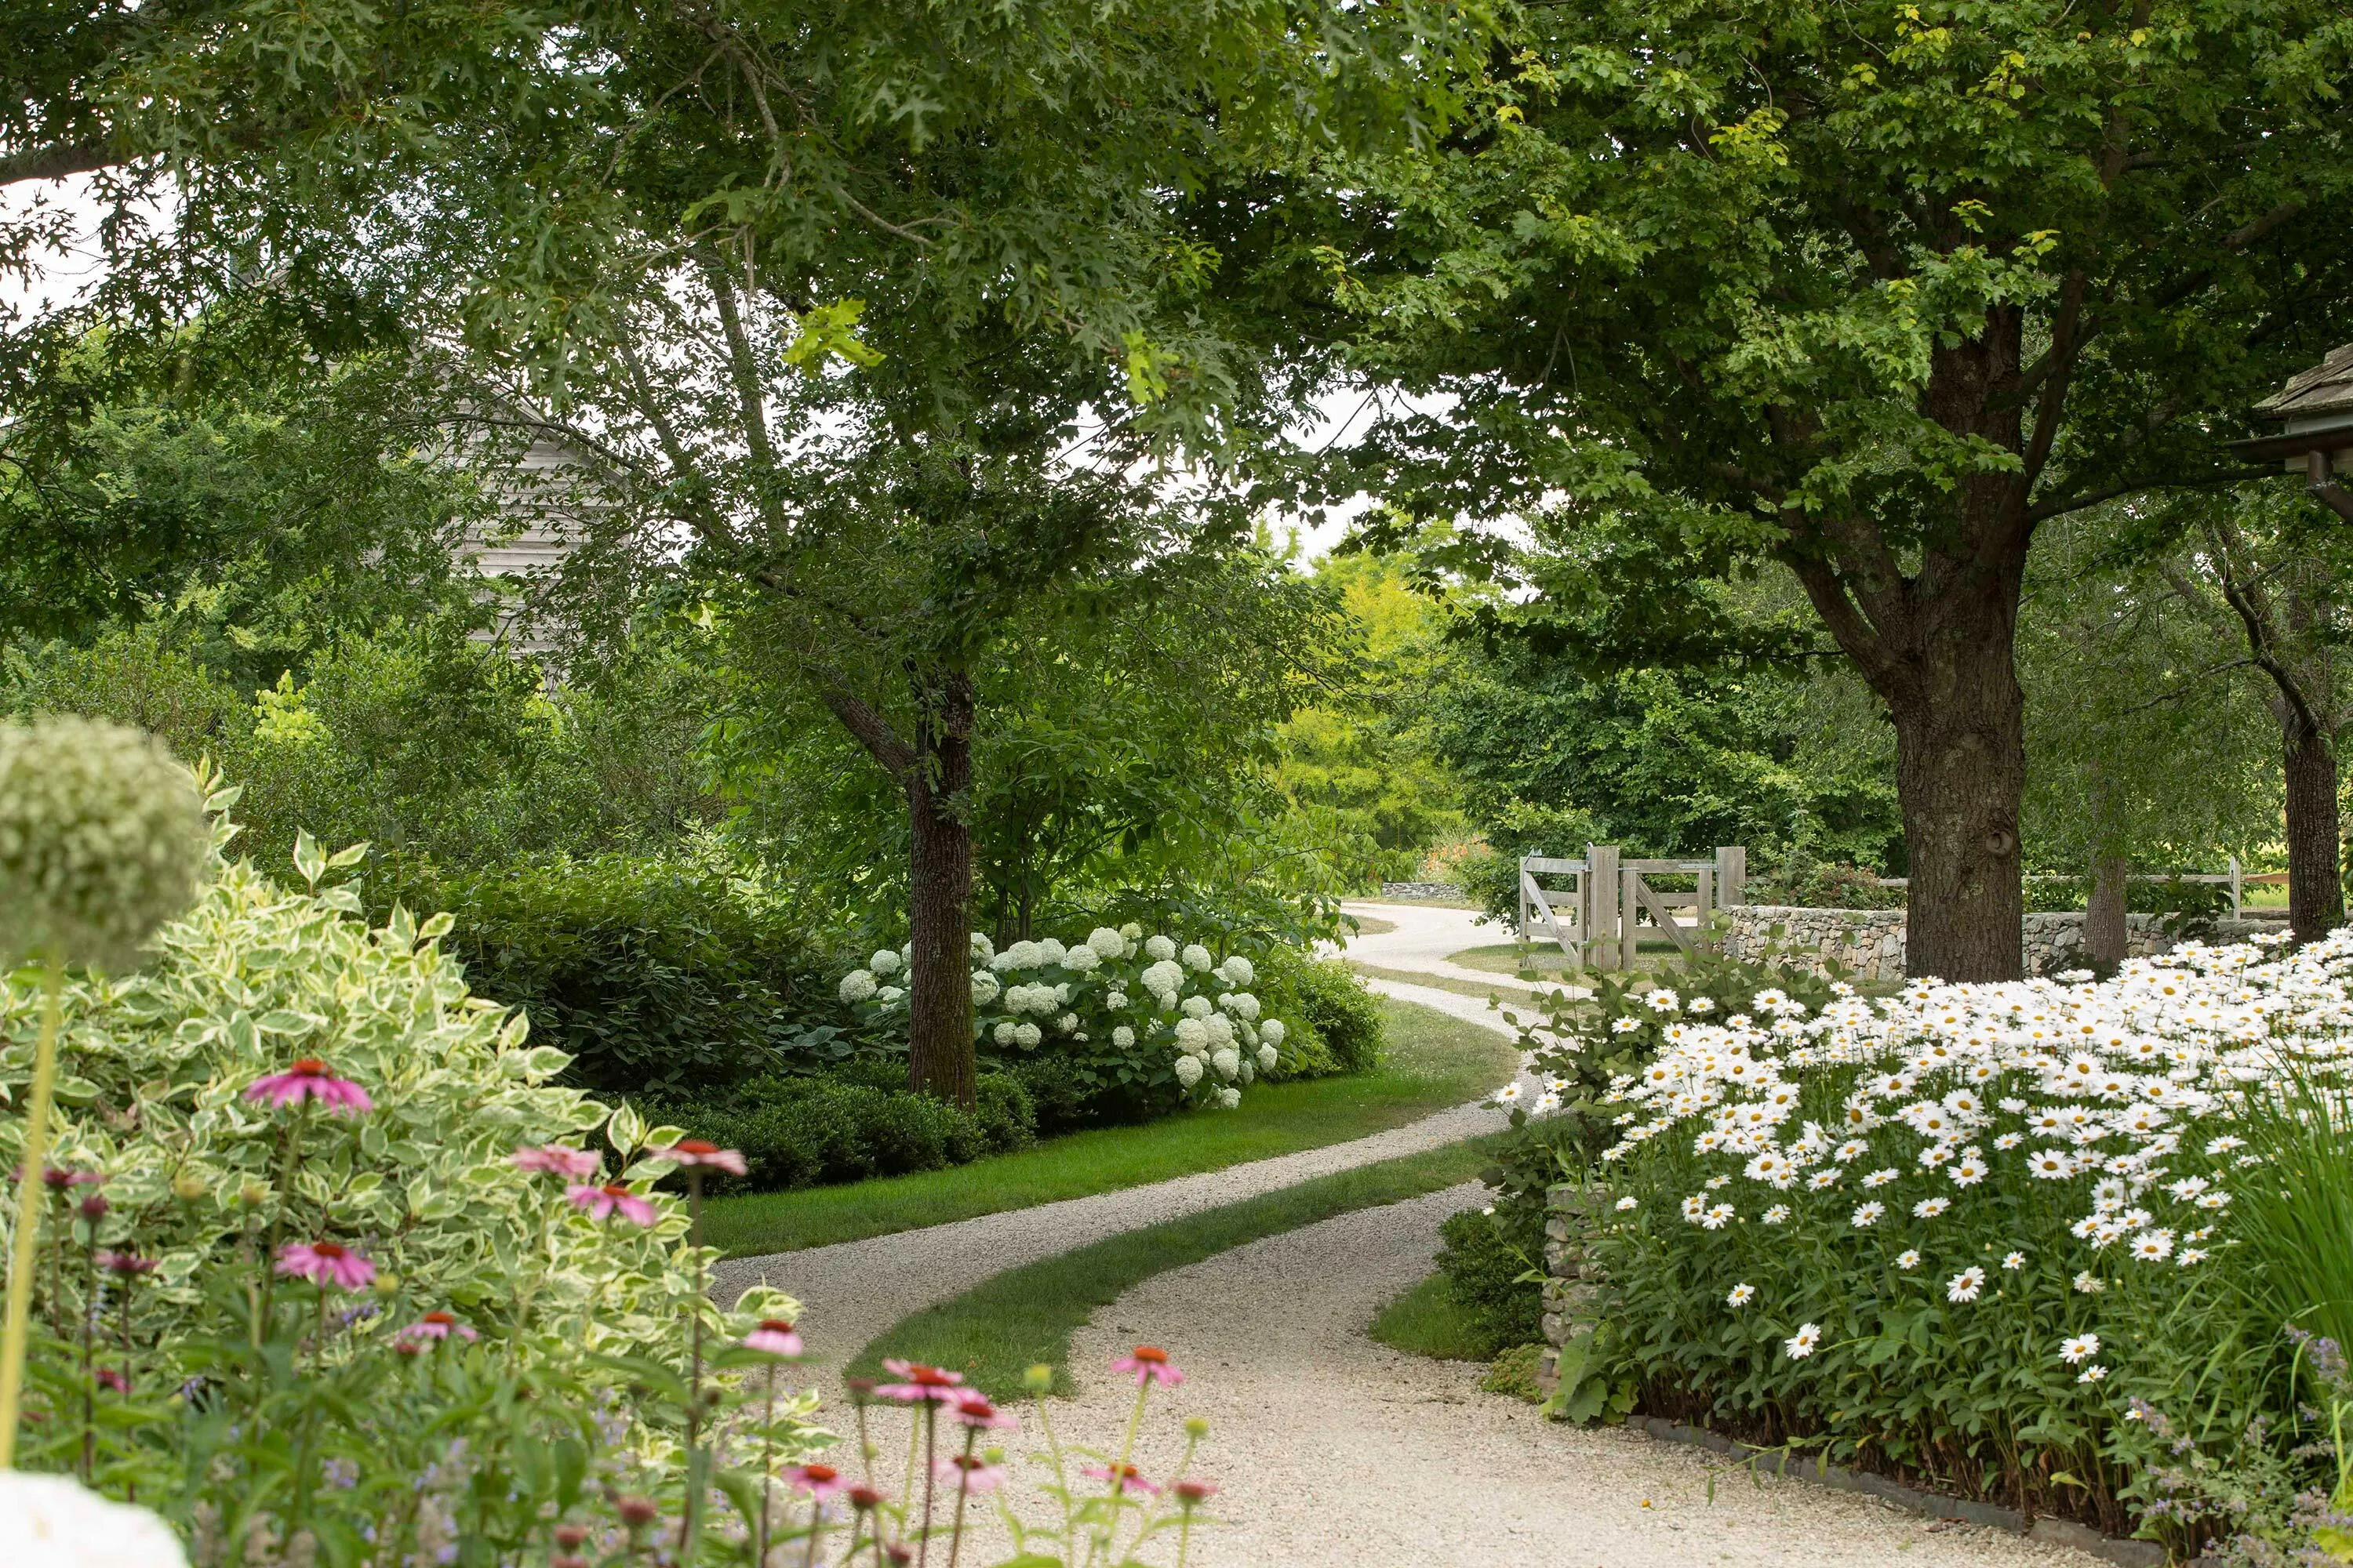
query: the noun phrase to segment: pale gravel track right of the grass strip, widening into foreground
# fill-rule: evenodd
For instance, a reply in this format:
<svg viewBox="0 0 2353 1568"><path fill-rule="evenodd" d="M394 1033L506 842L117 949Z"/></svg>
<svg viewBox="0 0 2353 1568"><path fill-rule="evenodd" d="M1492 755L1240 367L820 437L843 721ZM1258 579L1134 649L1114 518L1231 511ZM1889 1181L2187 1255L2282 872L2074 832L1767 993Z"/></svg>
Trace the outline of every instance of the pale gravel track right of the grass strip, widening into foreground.
<svg viewBox="0 0 2353 1568"><path fill-rule="evenodd" d="M1464 1185L1268 1237L1158 1274L1073 1342L1082 1389L1056 1427L1115 1446L1134 1392L1094 1375L1160 1345L1191 1380L1146 1418L1139 1465L1167 1474L1179 1415L1205 1415L1200 1474L1224 1528L1200 1568L2005 1568L2082 1563L2057 1547L1939 1526L1626 1429L1577 1429L1478 1392L1480 1368L1374 1345L1365 1328L1431 1269ZM984 1559L986 1561L986 1559Z"/></svg>

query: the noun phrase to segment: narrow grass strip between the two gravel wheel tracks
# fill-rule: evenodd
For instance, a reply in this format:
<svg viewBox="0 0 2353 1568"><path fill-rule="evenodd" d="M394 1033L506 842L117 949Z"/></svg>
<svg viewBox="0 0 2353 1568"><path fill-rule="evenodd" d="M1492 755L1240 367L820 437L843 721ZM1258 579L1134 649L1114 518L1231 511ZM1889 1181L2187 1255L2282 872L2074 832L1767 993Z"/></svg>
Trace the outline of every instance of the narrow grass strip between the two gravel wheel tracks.
<svg viewBox="0 0 2353 1568"><path fill-rule="evenodd" d="M1024 1371L1047 1363L1054 1392L1068 1394L1075 1387L1071 1333L1136 1284L1261 1237L1466 1182L1494 1159L1494 1147L1497 1138L1473 1138L1384 1159L1007 1269L901 1319L859 1352L849 1373L875 1375L885 1356L929 1361L965 1373L991 1399L1012 1399L1021 1394Z"/></svg>

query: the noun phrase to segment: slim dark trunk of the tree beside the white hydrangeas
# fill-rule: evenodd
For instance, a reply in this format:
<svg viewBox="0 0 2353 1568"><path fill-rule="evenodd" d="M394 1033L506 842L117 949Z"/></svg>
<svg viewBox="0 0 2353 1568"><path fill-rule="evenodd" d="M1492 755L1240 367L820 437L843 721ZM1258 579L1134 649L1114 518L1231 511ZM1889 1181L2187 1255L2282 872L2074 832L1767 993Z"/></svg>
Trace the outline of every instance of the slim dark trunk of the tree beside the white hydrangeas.
<svg viewBox="0 0 2353 1568"><path fill-rule="evenodd" d="M972 1053L972 677L948 670L918 693L913 825L906 903L915 947L908 976L908 1065L915 1093L974 1105Z"/></svg>

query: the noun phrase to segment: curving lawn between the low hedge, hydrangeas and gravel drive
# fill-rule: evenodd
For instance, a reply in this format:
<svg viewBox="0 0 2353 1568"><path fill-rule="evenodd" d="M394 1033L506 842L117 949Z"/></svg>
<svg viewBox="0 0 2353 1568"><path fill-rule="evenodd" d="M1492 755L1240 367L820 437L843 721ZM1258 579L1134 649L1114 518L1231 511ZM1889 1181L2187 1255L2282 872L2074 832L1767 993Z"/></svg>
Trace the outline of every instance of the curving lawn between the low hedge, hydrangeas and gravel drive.
<svg viewBox="0 0 2353 1568"><path fill-rule="evenodd" d="M1388 1056L1374 1072L1259 1084L1240 1110L1092 1128L951 1171L713 1199L704 1234L748 1258L1141 1187L1405 1126L1506 1084L1518 1067L1513 1044L1475 1023L1409 1001L1384 999L1381 1013Z"/></svg>

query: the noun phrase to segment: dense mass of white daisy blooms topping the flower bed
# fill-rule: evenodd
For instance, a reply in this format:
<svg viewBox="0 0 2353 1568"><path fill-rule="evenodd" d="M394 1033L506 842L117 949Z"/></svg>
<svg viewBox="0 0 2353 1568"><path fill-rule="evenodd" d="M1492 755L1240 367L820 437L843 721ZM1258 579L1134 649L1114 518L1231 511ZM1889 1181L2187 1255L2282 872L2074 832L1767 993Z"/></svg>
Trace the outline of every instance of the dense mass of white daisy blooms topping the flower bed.
<svg viewBox="0 0 2353 1568"><path fill-rule="evenodd" d="M2228 1218L2231 1178L2257 1164L2228 1131L2247 1088L2275 1081L2282 1063L2320 1074L2353 1065L2348 980L2353 931L2285 957L2266 943L2188 943L2104 983L1915 980L1892 999L1842 994L1814 1016L1760 992L1755 1016L1699 1023L1697 1001L1652 992L1685 1020L1666 1030L1659 1060L1612 1084L1607 1100L1626 1110L1602 1159L1647 1166L1657 1154L1661 1173L1689 1168L1699 1192L1680 1211L1708 1232L1751 1201L1765 1225L1847 1237L1908 1213L1922 1225L1904 1232L1915 1246L1894 1258L1899 1269L1920 1267L1922 1248L1962 1220L1991 1255L2002 1244L1984 1234L2045 1197L2061 1251L2073 1237L2097 1255L2188 1269ZM1984 1265L1951 1262L1967 1267L1944 1279L1944 1298L1977 1302ZM2017 1272L2028 1255L2012 1248L2000 1265ZM2073 1279L2082 1293L2104 1286L2099 1267ZM1793 1340L1788 1354L1809 1352Z"/></svg>

